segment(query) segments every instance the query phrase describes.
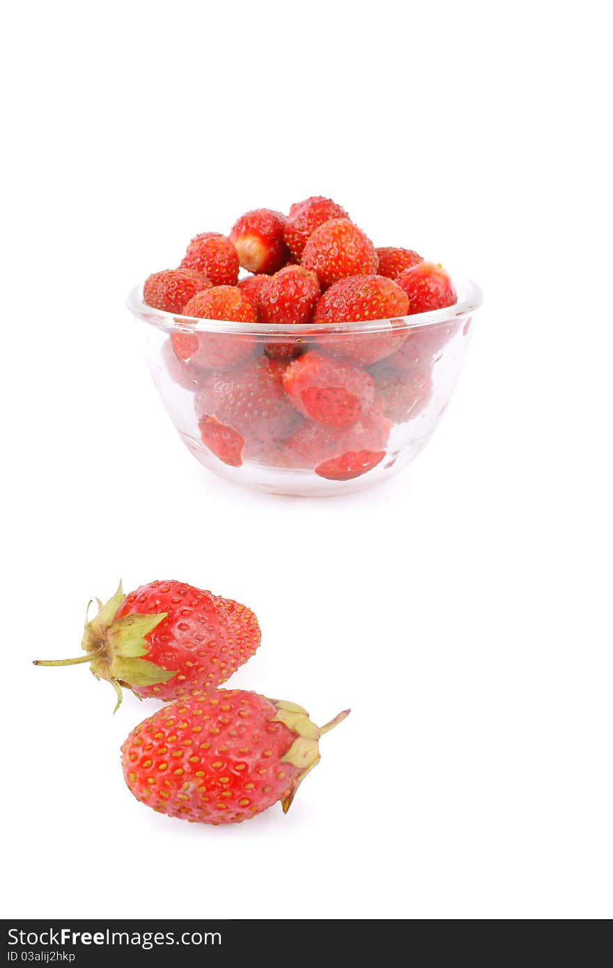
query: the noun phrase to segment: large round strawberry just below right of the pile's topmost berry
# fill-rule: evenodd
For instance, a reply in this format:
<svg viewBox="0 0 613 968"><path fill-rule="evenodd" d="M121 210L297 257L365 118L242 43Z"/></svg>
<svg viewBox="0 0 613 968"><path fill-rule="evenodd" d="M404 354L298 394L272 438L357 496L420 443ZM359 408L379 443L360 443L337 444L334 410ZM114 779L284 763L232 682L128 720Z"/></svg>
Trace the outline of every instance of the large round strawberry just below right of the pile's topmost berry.
<svg viewBox="0 0 613 968"><path fill-rule="evenodd" d="M317 273L325 289L347 276L377 272L377 253L361 228L349 219L331 219L311 235L302 253L302 265Z"/></svg>

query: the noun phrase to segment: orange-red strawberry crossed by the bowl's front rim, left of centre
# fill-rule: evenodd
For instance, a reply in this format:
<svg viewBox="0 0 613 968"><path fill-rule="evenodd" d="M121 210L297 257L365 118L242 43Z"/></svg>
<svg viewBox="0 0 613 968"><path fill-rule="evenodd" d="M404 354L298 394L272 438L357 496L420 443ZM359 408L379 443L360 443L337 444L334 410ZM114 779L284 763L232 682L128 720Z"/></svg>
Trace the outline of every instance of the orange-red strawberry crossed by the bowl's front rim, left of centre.
<svg viewBox="0 0 613 968"><path fill-rule="evenodd" d="M251 300L237 286L216 286L199 292L183 307L183 316L230 322L258 321ZM206 370L235 366L256 351L253 340L232 333L173 333L172 346L179 359L190 360Z"/></svg>

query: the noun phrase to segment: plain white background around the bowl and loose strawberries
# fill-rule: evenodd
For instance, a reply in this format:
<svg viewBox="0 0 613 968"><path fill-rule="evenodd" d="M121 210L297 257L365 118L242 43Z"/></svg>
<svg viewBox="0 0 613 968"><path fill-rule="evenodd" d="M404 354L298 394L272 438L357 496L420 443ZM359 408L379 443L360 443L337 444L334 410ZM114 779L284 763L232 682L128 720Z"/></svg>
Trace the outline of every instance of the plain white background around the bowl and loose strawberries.
<svg viewBox="0 0 613 968"><path fill-rule="evenodd" d="M605 5L14 5L3 30L2 833L11 917L604 918L611 807ZM124 308L189 238L334 197L485 303L428 450L274 499L201 469ZM152 707L77 654L154 578L238 598L234 685L350 718L287 817L158 816Z"/></svg>

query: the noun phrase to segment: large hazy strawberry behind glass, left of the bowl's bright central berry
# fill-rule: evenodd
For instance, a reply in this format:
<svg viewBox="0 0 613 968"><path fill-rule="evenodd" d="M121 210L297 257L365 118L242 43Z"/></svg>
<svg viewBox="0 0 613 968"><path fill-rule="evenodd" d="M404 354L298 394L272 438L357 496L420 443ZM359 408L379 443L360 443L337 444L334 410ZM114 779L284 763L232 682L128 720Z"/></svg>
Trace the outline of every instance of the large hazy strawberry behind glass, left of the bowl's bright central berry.
<svg viewBox="0 0 613 968"><path fill-rule="evenodd" d="M233 428L245 440L244 456L260 458L271 445L285 442L297 421L283 390L284 371L284 363L260 356L212 373L201 383L196 412Z"/></svg>

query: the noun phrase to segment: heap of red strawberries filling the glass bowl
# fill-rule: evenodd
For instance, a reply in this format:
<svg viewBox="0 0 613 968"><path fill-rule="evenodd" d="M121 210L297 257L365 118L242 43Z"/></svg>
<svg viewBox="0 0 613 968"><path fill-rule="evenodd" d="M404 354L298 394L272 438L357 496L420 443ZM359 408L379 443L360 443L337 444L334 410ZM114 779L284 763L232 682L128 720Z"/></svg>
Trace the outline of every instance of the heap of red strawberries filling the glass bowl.
<svg viewBox="0 0 613 968"><path fill-rule="evenodd" d="M239 280L241 267L251 275ZM195 393L203 443L221 461L330 480L383 460L392 426L426 407L433 363L456 329L453 320L408 328L401 319L456 303L441 265L412 249L376 249L323 197L291 205L287 217L248 212L228 237L197 235L179 268L149 276L143 298L169 313L246 324L204 333L181 331L177 320L164 349L170 376ZM326 325L382 319L376 332ZM250 336L252 323L269 333ZM308 337L291 339L292 325L308 325Z"/></svg>

